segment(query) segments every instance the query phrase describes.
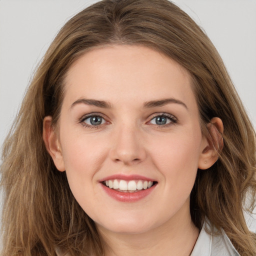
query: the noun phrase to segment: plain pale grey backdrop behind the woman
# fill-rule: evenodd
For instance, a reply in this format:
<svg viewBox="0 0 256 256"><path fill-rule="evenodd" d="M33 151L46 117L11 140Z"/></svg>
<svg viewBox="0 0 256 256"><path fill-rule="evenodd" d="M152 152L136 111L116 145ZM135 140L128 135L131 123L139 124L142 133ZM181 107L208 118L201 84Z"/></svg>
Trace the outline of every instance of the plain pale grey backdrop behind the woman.
<svg viewBox="0 0 256 256"><path fill-rule="evenodd" d="M0 147L33 70L61 26L97 0L0 0ZM219 51L256 127L256 1L173 0ZM1 201L1 197L0 197ZM249 225L255 231L256 225Z"/></svg>

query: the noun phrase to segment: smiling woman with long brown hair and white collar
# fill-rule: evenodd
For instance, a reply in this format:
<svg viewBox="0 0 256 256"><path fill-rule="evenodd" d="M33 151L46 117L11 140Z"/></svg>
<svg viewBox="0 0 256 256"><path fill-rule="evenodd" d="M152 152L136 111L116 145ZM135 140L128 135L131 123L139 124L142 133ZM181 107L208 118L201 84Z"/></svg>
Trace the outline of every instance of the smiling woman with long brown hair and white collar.
<svg viewBox="0 0 256 256"><path fill-rule="evenodd" d="M166 0L103 0L64 25L1 173L4 255L256 251L255 133L210 40Z"/></svg>

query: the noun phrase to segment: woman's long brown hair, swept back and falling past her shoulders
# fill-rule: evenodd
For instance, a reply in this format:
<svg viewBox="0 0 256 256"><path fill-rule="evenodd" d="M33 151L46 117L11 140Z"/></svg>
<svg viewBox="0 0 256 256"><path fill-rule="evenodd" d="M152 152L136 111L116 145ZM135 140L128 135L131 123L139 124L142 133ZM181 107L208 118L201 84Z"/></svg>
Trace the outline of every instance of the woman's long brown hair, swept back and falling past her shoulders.
<svg viewBox="0 0 256 256"><path fill-rule="evenodd" d="M72 17L59 31L32 79L2 152L4 191L2 255L103 255L94 222L74 199L65 172L55 168L42 140L42 121L57 123L63 79L91 47L139 44L174 59L191 74L202 131L217 116L224 147L217 162L198 170L190 196L192 220L207 216L223 228L241 255L253 255L256 238L244 220L253 207L256 139L221 58L205 33L167 0L103 0ZM250 196L248 196L250 195Z"/></svg>

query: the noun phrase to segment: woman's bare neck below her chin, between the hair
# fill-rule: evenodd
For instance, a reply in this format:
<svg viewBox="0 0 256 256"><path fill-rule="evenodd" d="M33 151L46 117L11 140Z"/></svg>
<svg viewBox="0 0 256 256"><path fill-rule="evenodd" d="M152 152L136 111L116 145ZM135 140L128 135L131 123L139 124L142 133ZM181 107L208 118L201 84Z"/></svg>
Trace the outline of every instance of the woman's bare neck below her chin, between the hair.
<svg viewBox="0 0 256 256"><path fill-rule="evenodd" d="M142 233L116 233L102 227L99 231L107 244L106 256L188 256L198 237L190 213L185 218L182 213L176 214L163 225Z"/></svg>

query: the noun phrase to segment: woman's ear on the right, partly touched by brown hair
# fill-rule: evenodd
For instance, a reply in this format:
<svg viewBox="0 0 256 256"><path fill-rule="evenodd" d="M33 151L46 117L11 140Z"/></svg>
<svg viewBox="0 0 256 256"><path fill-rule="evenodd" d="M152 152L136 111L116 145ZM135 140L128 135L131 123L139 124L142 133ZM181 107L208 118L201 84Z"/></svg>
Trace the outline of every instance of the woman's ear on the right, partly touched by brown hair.
<svg viewBox="0 0 256 256"><path fill-rule="evenodd" d="M199 169L207 169L218 159L223 148L223 123L220 118L213 117L207 124L208 137L202 141L202 151L198 160Z"/></svg>

